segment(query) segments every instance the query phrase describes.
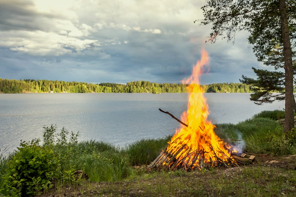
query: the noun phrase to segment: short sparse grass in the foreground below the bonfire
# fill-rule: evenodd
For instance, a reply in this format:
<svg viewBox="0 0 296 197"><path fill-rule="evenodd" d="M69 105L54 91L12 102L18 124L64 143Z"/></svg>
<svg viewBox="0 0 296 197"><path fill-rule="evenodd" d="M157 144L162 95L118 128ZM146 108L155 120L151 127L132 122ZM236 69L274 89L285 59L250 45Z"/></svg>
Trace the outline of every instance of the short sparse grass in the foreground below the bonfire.
<svg viewBox="0 0 296 197"><path fill-rule="evenodd" d="M295 157L294 157L295 159ZM160 172L119 182L85 183L79 196L295 196L295 170L255 164L224 170ZM44 196L62 196L71 188Z"/></svg>

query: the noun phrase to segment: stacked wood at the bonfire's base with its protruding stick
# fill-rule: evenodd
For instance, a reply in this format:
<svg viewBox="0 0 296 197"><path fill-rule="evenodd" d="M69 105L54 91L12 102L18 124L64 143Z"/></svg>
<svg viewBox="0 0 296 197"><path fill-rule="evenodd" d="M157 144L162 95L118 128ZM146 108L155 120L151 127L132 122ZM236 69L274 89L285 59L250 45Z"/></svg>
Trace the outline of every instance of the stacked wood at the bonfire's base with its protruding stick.
<svg viewBox="0 0 296 197"><path fill-rule="evenodd" d="M188 127L187 124L181 122L175 116L167 111L159 109L161 112L169 114L178 122ZM211 146L211 145L210 145ZM148 168L151 170L185 170L190 171L194 169L203 168L223 168L232 167L239 164L250 163L254 160L255 156L250 156L245 153L239 154L237 152L232 152L229 150L230 157L228 157L222 150L214 152L213 147L211 147L212 155L210 159L205 159L205 152L203 149L192 150L191 147L186 145L180 138L176 138L173 142L169 143L168 147L163 150L160 155L150 163ZM217 155L223 155L223 159Z"/></svg>

